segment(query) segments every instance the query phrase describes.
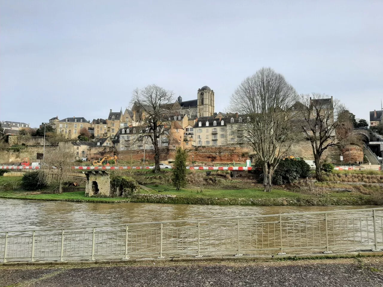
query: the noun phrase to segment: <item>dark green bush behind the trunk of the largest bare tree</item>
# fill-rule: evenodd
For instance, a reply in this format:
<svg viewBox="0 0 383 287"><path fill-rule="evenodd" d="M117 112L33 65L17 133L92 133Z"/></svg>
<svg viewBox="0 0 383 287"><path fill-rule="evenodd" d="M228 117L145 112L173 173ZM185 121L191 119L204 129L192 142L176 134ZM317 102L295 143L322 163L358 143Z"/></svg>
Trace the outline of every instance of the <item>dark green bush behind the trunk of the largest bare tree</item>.
<svg viewBox="0 0 383 287"><path fill-rule="evenodd" d="M254 165L254 173L263 180L263 170L260 162ZM281 160L273 174L273 184L290 184L299 178L310 176L310 166L304 160L286 159Z"/></svg>

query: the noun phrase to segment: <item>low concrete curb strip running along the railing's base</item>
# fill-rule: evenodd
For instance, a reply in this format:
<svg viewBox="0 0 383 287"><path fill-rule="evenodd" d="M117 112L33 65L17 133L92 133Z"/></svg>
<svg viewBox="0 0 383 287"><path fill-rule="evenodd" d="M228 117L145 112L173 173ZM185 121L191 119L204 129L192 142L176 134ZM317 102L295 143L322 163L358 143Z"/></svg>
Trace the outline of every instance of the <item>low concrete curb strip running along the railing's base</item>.
<svg viewBox="0 0 383 287"><path fill-rule="evenodd" d="M320 260L339 258L361 258L383 256L383 251L354 251L332 254L296 254L296 255L244 255L244 256L211 256L211 257L169 257L169 258L136 258L128 260L95 260L95 261L36 261L36 262L9 262L0 263L0 267L25 267L25 266L90 266L90 265L134 265L142 263L220 263L220 262L270 262L270 261L297 261Z"/></svg>

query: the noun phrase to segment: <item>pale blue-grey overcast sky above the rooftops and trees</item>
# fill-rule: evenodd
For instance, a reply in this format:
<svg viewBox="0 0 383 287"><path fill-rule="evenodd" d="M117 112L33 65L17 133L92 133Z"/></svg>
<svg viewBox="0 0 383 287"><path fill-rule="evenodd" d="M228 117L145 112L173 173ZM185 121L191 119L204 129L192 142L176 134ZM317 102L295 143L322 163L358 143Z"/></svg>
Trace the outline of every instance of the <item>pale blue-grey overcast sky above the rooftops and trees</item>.
<svg viewBox="0 0 383 287"><path fill-rule="evenodd" d="M3 0L0 120L105 119L153 83L184 101L208 85L228 111L262 67L369 120L383 98L381 11L381 0Z"/></svg>

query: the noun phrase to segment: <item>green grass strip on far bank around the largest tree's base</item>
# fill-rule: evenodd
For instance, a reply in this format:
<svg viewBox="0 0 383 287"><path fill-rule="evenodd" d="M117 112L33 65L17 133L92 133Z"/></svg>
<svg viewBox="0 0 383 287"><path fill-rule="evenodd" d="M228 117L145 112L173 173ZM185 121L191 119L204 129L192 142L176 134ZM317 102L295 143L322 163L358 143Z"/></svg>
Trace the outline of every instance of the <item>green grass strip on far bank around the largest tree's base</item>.
<svg viewBox="0 0 383 287"><path fill-rule="evenodd" d="M151 185L147 187L154 189L154 191L142 190L142 193L151 194L174 194L182 197L217 197L217 198L296 198L302 196L301 194L283 191L283 190L272 190L272 192L264 192L263 189L237 189L237 190L212 190L204 189L203 192L197 192L195 189L180 189L176 190L172 186L165 185ZM165 190L158 192L159 190Z"/></svg>

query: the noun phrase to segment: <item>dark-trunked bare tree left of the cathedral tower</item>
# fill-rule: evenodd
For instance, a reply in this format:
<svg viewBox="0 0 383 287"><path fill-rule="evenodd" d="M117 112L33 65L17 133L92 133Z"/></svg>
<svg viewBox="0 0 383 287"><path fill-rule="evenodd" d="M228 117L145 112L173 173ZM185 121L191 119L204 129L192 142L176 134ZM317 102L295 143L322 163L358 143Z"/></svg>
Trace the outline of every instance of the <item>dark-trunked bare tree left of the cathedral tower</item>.
<svg viewBox="0 0 383 287"><path fill-rule="evenodd" d="M139 119L143 141L149 138L154 147L154 172L160 172L160 145L161 138L166 137L167 128L170 126L169 112L175 99L173 92L157 85L148 85L133 91L133 110Z"/></svg>

